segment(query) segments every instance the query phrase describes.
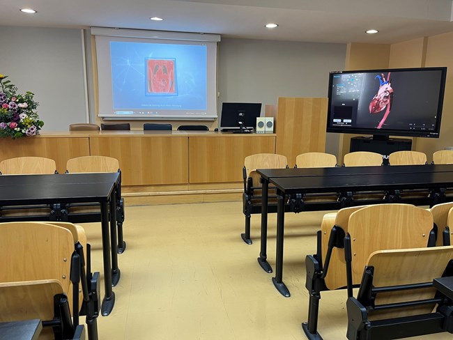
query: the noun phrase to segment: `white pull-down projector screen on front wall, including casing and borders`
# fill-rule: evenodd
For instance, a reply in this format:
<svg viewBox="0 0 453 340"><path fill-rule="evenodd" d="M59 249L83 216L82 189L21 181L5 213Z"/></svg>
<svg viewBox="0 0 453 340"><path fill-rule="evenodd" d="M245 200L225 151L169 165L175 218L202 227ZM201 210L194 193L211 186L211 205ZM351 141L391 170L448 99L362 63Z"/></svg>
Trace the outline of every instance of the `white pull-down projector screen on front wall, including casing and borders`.
<svg viewBox="0 0 453 340"><path fill-rule="evenodd" d="M217 118L217 42L196 33L92 28L99 116Z"/></svg>

